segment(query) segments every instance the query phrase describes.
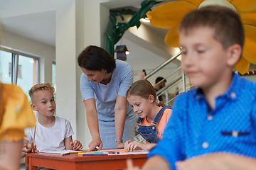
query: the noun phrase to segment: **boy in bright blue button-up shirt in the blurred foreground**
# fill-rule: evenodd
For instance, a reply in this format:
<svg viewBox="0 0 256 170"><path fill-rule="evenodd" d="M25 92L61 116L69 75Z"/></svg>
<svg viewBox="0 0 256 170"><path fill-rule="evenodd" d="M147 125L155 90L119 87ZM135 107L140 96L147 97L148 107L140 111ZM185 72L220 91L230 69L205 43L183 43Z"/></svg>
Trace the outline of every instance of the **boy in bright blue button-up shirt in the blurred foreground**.
<svg viewBox="0 0 256 170"><path fill-rule="evenodd" d="M233 72L244 43L240 17L199 8L183 18L179 38L181 67L197 88L176 98L143 169L255 169L256 84Z"/></svg>

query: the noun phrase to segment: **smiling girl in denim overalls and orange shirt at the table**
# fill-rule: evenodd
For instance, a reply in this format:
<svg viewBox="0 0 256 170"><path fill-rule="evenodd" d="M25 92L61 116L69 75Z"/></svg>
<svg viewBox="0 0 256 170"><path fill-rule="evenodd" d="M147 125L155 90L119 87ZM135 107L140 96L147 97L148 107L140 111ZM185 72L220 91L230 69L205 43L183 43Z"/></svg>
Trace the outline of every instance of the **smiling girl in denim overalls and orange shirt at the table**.
<svg viewBox="0 0 256 170"><path fill-rule="evenodd" d="M159 101L154 86L147 80L139 80L132 84L127 91L127 101L139 116L138 131L146 140L146 144L128 140L124 143L124 149L149 150L161 140L164 127L172 112L171 107Z"/></svg>

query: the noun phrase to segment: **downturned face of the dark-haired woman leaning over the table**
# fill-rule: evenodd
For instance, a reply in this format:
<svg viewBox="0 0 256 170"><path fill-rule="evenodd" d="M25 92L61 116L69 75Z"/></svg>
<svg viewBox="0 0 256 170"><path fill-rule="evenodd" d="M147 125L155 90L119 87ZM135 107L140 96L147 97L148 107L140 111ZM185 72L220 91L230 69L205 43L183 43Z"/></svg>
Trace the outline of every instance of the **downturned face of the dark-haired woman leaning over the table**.
<svg viewBox="0 0 256 170"><path fill-rule="evenodd" d="M82 72L87 76L87 81L95 81L95 83L99 84L103 79L105 79L105 72L106 70L102 69L101 71L98 70L89 70L81 67Z"/></svg>

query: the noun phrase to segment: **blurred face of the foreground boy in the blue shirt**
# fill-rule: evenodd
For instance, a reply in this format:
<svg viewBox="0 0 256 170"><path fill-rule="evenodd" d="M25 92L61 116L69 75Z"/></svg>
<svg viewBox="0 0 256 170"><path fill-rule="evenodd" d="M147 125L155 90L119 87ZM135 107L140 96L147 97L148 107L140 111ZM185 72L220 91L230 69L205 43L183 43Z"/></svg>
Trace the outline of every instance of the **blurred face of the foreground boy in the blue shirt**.
<svg viewBox="0 0 256 170"><path fill-rule="evenodd" d="M188 34L184 31L180 33L181 67L193 86L211 87L230 72L226 64L228 50L223 49L213 34L212 28L203 26L190 30Z"/></svg>

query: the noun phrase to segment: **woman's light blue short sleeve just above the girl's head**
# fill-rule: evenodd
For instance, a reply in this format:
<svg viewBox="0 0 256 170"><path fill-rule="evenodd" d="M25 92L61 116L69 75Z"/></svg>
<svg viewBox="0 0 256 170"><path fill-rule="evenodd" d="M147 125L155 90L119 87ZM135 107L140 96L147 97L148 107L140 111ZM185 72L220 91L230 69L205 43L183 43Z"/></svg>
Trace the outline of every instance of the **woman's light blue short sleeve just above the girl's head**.
<svg viewBox="0 0 256 170"><path fill-rule="evenodd" d="M119 86L118 95L126 97L127 91L133 83L133 69L127 64L122 71L121 83Z"/></svg>

